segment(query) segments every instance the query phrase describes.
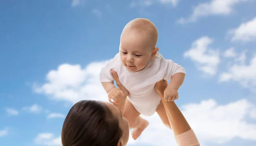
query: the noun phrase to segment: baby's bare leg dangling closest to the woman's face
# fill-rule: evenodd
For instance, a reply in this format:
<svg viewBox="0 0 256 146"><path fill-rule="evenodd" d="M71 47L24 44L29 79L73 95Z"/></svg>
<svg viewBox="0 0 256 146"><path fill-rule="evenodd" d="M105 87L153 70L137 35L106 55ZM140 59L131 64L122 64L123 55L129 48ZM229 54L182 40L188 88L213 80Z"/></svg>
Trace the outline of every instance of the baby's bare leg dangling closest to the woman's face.
<svg viewBox="0 0 256 146"><path fill-rule="evenodd" d="M140 113L134 108L128 99L125 101L123 116L128 120L130 129L134 129L131 135L133 139L136 140L148 126L148 121L140 117Z"/></svg>

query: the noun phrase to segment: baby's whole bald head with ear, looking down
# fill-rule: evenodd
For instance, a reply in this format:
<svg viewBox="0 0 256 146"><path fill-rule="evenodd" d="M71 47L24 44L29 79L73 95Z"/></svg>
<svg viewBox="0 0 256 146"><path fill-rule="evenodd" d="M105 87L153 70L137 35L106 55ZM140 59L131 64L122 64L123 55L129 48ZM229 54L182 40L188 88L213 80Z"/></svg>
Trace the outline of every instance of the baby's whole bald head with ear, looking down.
<svg viewBox="0 0 256 146"><path fill-rule="evenodd" d="M158 32L147 19L137 18L127 23L120 38L120 58L130 72L138 72L147 66L158 52Z"/></svg>

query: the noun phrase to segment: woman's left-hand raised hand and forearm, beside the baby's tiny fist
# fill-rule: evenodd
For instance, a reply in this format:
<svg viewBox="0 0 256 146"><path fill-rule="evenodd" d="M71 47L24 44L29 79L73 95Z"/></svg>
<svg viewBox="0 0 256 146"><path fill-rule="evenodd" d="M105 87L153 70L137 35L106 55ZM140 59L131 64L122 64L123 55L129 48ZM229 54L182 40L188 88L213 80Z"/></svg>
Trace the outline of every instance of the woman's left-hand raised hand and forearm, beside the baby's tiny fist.
<svg viewBox="0 0 256 146"><path fill-rule="evenodd" d="M124 96L120 97L119 100L118 100L118 104L116 103L113 103L114 106L116 106L117 108L120 109L121 112L123 112L123 109L125 107L125 100L126 100L126 97L128 96L129 92L128 90L122 86L120 80L119 80L119 77L118 75L116 74L115 71L111 70L111 75L113 76L114 80L116 81L116 85L117 85L117 88L119 88L120 90L122 90Z"/></svg>

